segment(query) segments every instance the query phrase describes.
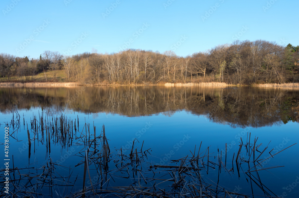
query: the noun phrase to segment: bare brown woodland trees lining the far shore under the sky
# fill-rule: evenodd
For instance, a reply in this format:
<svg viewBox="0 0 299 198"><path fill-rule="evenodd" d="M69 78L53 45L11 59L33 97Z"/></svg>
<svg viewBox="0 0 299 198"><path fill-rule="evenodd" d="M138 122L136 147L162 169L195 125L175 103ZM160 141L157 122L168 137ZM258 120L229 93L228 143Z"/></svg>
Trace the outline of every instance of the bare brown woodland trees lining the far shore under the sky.
<svg viewBox="0 0 299 198"><path fill-rule="evenodd" d="M31 60L0 54L0 74L8 81L13 76L34 81L36 74L51 70L56 81L57 71L63 69L66 81L82 84L295 83L299 82L298 48L265 40L237 40L186 57L173 51L161 54L138 49L73 56L44 51L39 59Z"/></svg>

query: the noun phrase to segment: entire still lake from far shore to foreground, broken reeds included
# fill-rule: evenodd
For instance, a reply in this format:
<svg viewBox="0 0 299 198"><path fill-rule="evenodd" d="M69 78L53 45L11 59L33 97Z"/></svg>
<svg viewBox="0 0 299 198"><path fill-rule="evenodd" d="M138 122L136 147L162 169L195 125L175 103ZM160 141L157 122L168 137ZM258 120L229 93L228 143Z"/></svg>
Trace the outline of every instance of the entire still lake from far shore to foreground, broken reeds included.
<svg viewBox="0 0 299 198"><path fill-rule="evenodd" d="M299 91L2 87L0 109L20 197L299 194Z"/></svg>

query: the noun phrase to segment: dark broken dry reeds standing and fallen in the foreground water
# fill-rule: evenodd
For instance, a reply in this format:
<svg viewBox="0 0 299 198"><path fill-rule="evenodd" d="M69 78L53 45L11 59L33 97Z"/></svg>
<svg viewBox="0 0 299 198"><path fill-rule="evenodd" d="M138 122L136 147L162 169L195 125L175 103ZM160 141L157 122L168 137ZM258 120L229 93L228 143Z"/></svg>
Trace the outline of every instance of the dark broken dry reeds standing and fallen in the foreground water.
<svg viewBox="0 0 299 198"><path fill-rule="evenodd" d="M17 114L16 117L13 117L11 122L9 124L7 123L7 125L19 127L19 115ZM226 162L227 156L229 157L227 144L225 145L225 162L222 162L222 152L218 150L218 156L212 156L213 152L211 146L200 153L201 142L197 154L195 146L194 152L190 151L191 156L187 155L180 159L170 159L170 164L158 165L152 163L152 159L147 160L148 155L150 155L150 149L142 152L144 142L142 142L141 147L138 147L137 139L134 140L132 148L127 149L128 155L125 155L123 153L125 149L110 150L107 138L109 132L105 131L104 125L99 135L96 135L97 131L95 126L94 134L90 133L88 123L84 122L81 125L83 126L82 128L80 127L80 131L82 132L79 131L79 126L79 120L77 119L77 123L73 128L71 118L67 118L65 115L48 116L42 113L39 115L39 118L33 116L31 128L28 127L28 140L30 140L30 135L32 134L31 139L36 139L44 146L48 145L48 154L50 154L50 139L53 147L57 145L66 148L71 147L74 143L76 143L76 145L79 144L80 151L74 153L74 156L79 156L81 161L74 167L66 167L61 165L59 161L52 162L51 157L49 157L42 167L30 166L29 168L13 168L11 172L19 175L19 178L15 178L12 181L16 187L16 191L13 192L14 194L18 196L39 197L45 194L45 189L47 188L49 196L55 195L57 197L69 198L100 196L228 198L233 195L234 197L248 198L248 194L234 192L220 184L220 174L231 177L231 173L233 173L239 177L243 175L247 176L246 179L248 179L251 185L255 184L257 188L263 191L264 197L277 197L263 184L259 172L282 166L264 167L262 165L262 160L264 159L259 160L259 157L262 153L266 152L268 146L264 147L264 149L260 149L263 145L257 144L257 138L254 138L254 142L250 143L252 142L250 141L251 134L249 134L249 139L246 140L246 143L245 141L240 142L235 161L235 153L231 153L233 154L231 163ZM84 128L86 130L85 133L83 133ZM75 134L77 135L74 136L73 130L75 130ZM44 131L46 134L45 138ZM76 131L78 131L78 133L76 133ZM38 134L41 138L36 138ZM261 154L255 155L258 148L263 151L259 152ZM244 149L246 152L244 152ZM271 151L269 152L270 154ZM241 153L242 157L240 157ZM273 154L271 157L277 154L278 153ZM251 155L253 158L251 158ZM255 158L255 156L258 157ZM234 164L237 170L234 170ZM81 177L78 175L76 177L72 176L73 170L77 166L83 170L83 177L82 175ZM59 167L66 170L64 171L65 174L69 172L69 176L60 176L59 172L57 172ZM218 181L207 179L207 176L204 175L208 174L209 171L216 173L217 170ZM244 174L240 175L239 170L242 170ZM236 172L238 174L236 174ZM78 174L79 173L80 172L78 172ZM92 179L94 176L98 176L97 180ZM78 177L80 177L80 179L77 180ZM68 179L66 180L65 178ZM25 183L22 183L23 181L25 181ZM119 183L119 181L121 183ZM41 186L39 187L40 189L31 188L32 186L39 185ZM63 190L61 190L61 186L63 186ZM68 189L68 187L71 189ZM74 192L72 191L73 188L80 190Z"/></svg>

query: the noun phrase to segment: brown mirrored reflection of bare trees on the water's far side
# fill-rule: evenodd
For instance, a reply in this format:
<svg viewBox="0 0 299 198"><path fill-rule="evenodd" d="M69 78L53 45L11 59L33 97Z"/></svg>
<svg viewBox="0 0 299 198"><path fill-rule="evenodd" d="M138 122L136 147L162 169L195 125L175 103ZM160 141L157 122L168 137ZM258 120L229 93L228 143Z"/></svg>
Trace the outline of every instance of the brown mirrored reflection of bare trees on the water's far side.
<svg viewBox="0 0 299 198"><path fill-rule="evenodd" d="M125 116L186 110L231 127L262 127L298 122L299 92L241 87L84 87L1 88L1 109L39 107L48 112L74 110Z"/></svg>

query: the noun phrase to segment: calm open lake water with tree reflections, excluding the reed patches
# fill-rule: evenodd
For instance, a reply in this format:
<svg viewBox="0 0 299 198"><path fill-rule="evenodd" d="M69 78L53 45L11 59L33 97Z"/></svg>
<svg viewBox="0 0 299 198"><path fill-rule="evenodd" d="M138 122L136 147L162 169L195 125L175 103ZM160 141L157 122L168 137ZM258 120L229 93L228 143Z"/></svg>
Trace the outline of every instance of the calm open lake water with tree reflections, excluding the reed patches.
<svg viewBox="0 0 299 198"><path fill-rule="evenodd" d="M35 197L41 197L42 194L63 197L71 192L82 190L84 152L88 140L83 140L80 136L88 133L84 127L85 123L90 123L92 137L93 125L96 127L96 136L100 136L102 126L105 125L109 147L115 156L120 148L124 154L129 154L133 141L138 140L136 147L138 149L142 147L143 151L149 149L150 152L150 155L144 158L142 166L144 169L149 169L151 165L179 165L171 160L181 159L187 155L192 156L195 147L197 154L200 145L200 153L203 152L202 156L205 156L203 159L206 160L206 149L209 147L209 160L217 164L218 156L222 154L221 162L224 163L223 153L227 144L226 169L230 170L233 166L233 156L235 161L241 142L244 144L248 142L248 146L256 149L255 159L262 153L258 157L259 160L269 158L270 151L274 155L299 142L298 91L124 86L0 88L0 109L3 132L0 142L4 144L4 127L7 123L11 135L9 158L12 160L13 155L14 167L35 168L22 169L18 173L15 172L14 176L11 175L13 181L10 183L10 191L39 193L33 194ZM37 118L43 116L51 121L52 118L62 114L66 119L74 122L75 119L76 122L79 119L79 132L77 131L77 134L68 141L64 143L56 141L55 134L52 133L47 137L42 137L41 134L37 137L33 132L31 121L34 116ZM19 119L19 122L15 122L15 126L10 125L12 118ZM18 124L19 128L16 126ZM32 142L30 150L27 124ZM51 152L48 150L46 141L48 137L51 141ZM256 145L254 139L257 139ZM246 147L243 146L239 159L250 156L252 148L247 152ZM201 174L207 183L218 182L222 188L231 189L239 194L248 194L249 197L252 197L252 194L264 195L259 186L266 189L269 196L298 197L298 149L299 144L295 144L273 158L265 160L263 166L257 169L284 167L260 170L259 175L251 172L252 178L259 178L255 181L257 183L245 173L249 169L245 162L238 166L239 173L236 164L233 171L225 171L222 167L221 173L218 167L213 169L213 164L210 164L208 174L206 170L202 170ZM41 183L44 182L41 178L46 178L46 174L41 176L42 171L49 166L47 163L50 162L59 165L53 169L53 172L65 180L71 178L70 181L75 181L72 187L62 185L50 188L48 187L50 184L41 187ZM110 170L115 167L115 163L110 161ZM3 168L4 166L1 169ZM12 165L10 168L13 168ZM93 165L89 168L92 180L98 182L100 174L97 168ZM155 171L159 170L162 169L158 168ZM28 176L23 177L24 174ZM132 176L124 179L123 173L114 174L115 176L113 174L107 176L107 180L112 179L105 185L109 187L130 185L134 180ZM32 178L37 175L40 176L39 179ZM22 180L17 180L21 177ZM161 178L164 177L166 176ZM62 180L53 179L55 184L65 184ZM1 183L2 181L4 181L3 177ZM86 182L89 181L86 179ZM152 183L149 182L147 185L153 185ZM165 182L165 185L169 184ZM2 189L1 193L3 191Z"/></svg>

